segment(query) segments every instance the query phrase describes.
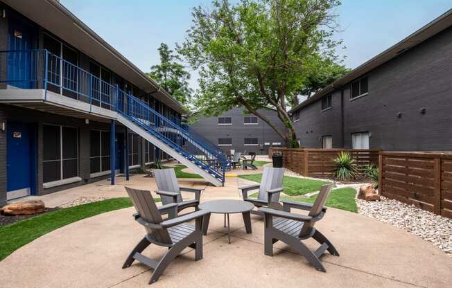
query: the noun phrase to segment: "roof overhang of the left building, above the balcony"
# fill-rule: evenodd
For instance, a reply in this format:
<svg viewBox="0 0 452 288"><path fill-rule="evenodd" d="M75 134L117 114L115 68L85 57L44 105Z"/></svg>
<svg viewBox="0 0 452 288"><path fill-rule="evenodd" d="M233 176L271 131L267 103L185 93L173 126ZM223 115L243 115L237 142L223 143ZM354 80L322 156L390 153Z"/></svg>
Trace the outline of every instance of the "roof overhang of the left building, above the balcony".
<svg viewBox="0 0 452 288"><path fill-rule="evenodd" d="M22 15L106 66L128 82L164 102L175 111L185 109L167 91L127 60L91 28L56 0L2 0ZM127 35L124 35L127 37Z"/></svg>

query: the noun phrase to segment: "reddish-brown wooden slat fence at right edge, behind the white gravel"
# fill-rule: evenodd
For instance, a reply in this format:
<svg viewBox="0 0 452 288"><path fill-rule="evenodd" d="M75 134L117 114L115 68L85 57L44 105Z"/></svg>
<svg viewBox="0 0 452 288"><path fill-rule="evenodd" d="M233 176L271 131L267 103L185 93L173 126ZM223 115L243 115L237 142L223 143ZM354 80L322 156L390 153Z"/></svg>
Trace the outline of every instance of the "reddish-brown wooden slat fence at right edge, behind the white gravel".
<svg viewBox="0 0 452 288"><path fill-rule="evenodd" d="M451 152L381 152L381 195L452 218Z"/></svg>

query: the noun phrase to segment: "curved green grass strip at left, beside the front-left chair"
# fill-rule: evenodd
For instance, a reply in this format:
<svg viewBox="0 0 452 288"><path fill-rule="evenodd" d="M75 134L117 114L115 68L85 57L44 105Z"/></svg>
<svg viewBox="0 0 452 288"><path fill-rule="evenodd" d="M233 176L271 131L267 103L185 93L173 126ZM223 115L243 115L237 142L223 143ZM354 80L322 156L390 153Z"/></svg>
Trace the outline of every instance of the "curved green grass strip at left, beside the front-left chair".
<svg viewBox="0 0 452 288"><path fill-rule="evenodd" d="M160 201L160 199L156 199ZM87 217L132 206L129 198L115 198L64 208L0 227L0 260L46 233Z"/></svg>

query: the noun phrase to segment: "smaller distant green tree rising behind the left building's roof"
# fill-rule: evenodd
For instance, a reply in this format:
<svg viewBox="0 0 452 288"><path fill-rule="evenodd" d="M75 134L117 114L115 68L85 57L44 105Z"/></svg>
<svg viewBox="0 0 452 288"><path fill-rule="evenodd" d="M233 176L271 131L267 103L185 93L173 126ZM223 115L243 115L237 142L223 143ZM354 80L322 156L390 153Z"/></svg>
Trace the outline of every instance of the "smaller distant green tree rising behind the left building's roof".
<svg viewBox="0 0 452 288"><path fill-rule="evenodd" d="M168 45L162 43L159 47L160 64L150 67L150 78L153 78L174 98L186 104L193 93L189 88L190 73L185 71L184 66L178 63L176 55L168 48Z"/></svg>

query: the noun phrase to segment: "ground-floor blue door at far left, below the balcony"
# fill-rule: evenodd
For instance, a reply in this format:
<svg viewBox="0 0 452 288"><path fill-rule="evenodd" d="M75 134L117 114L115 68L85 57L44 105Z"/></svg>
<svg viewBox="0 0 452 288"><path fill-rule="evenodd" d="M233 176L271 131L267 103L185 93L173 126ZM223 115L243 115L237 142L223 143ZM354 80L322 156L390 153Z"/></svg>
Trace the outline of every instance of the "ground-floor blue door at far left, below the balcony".
<svg viewBox="0 0 452 288"><path fill-rule="evenodd" d="M8 122L6 133L6 191L9 200L31 194L33 135L30 125L19 122Z"/></svg>

